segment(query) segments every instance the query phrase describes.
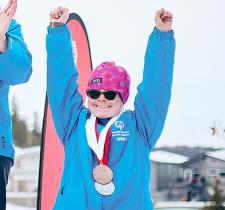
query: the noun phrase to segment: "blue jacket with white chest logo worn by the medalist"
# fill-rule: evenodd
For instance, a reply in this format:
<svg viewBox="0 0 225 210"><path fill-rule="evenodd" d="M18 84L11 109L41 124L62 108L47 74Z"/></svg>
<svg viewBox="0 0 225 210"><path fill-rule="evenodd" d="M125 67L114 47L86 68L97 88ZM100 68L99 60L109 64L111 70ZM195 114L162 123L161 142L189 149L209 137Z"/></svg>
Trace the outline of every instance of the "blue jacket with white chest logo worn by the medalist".
<svg viewBox="0 0 225 210"><path fill-rule="evenodd" d="M149 154L164 127L171 97L175 41L173 32L153 30L145 55L143 81L135 110L112 125L109 166L115 192L101 196L94 188L96 156L88 146L85 124L90 111L78 91L68 27L49 28L47 93L54 125L64 145L65 162L55 210L151 210ZM122 129L122 130L120 130ZM124 132L127 134L123 138Z"/></svg>

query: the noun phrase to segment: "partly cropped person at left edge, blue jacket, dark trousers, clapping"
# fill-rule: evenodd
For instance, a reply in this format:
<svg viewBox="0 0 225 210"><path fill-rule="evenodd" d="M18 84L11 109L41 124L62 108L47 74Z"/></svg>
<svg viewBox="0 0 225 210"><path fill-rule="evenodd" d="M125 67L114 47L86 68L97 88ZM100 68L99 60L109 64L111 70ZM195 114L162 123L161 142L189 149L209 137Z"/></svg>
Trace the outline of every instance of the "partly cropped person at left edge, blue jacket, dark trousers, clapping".
<svg viewBox="0 0 225 210"><path fill-rule="evenodd" d="M0 210L6 209L6 185L14 161L9 86L26 82L32 72L31 54L13 18L17 0L0 9Z"/></svg>

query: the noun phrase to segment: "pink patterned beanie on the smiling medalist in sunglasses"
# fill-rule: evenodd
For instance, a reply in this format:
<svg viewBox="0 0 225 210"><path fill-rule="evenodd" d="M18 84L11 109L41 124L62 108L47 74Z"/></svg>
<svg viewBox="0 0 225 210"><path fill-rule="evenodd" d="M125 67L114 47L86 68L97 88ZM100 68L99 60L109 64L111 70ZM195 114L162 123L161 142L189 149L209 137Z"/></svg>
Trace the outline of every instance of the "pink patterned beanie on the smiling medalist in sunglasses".
<svg viewBox="0 0 225 210"><path fill-rule="evenodd" d="M92 71L87 90L92 89L118 91L123 103L126 103L130 94L130 76L114 62L104 62Z"/></svg>

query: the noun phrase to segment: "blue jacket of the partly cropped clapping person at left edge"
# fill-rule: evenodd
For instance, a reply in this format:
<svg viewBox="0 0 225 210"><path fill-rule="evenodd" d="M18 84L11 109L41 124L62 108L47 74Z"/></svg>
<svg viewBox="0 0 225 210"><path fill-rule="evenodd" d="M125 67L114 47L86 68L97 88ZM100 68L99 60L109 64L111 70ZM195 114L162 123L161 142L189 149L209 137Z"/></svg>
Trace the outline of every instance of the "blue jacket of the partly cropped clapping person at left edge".
<svg viewBox="0 0 225 210"><path fill-rule="evenodd" d="M15 20L11 21L6 37L7 50L0 53L0 155L14 160L9 86L24 83L29 79L32 59L24 43L21 27Z"/></svg>

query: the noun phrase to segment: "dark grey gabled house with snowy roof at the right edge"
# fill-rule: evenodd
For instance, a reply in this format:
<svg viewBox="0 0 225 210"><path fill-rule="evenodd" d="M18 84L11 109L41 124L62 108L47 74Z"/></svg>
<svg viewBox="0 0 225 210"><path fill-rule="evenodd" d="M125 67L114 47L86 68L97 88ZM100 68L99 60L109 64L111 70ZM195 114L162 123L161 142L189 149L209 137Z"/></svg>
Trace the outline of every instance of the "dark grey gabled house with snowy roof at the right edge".
<svg viewBox="0 0 225 210"><path fill-rule="evenodd" d="M207 200L216 180L225 195L225 149L199 154L181 164L188 200Z"/></svg>

